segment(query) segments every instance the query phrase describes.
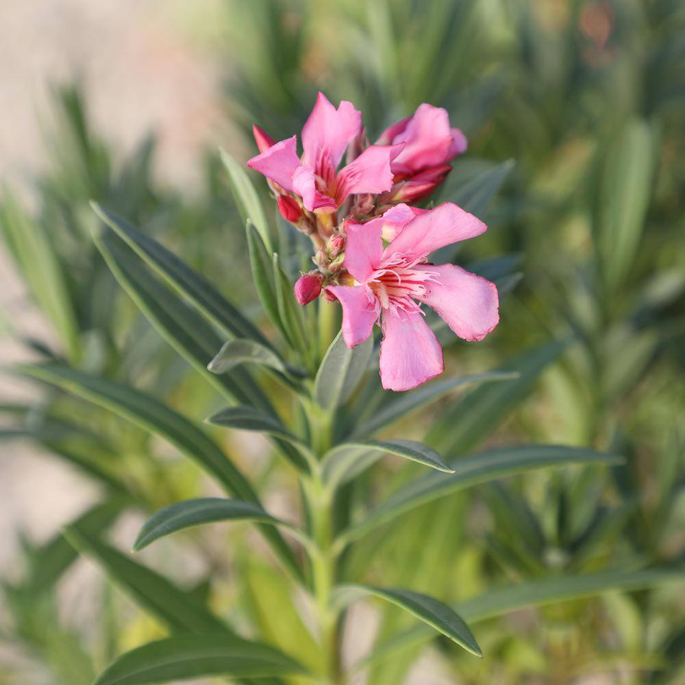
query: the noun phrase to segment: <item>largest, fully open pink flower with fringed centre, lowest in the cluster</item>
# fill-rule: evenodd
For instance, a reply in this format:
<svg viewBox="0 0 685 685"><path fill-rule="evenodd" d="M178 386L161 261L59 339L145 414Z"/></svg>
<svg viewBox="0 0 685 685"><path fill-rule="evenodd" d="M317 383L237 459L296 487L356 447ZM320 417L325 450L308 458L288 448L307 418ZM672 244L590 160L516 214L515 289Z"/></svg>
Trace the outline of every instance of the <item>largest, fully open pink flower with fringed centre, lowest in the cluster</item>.
<svg viewBox="0 0 685 685"><path fill-rule="evenodd" d="M394 234L385 248L384 229ZM384 388L410 390L443 373L443 351L421 304L464 340L482 340L499 322L495 284L454 264L427 262L436 249L485 230L482 221L449 202L429 211L397 206L369 223L347 223L344 266L356 284L326 290L343 307L348 347L363 343L380 321Z"/></svg>

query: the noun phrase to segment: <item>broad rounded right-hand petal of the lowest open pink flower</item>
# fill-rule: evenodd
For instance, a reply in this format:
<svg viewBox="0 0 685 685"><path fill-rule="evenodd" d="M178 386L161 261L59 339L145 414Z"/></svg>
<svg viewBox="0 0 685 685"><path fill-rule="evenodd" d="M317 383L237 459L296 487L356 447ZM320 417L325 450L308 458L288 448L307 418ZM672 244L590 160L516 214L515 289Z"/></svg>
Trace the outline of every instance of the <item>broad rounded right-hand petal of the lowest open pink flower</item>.
<svg viewBox="0 0 685 685"><path fill-rule="evenodd" d="M421 298L464 340L482 340L499 323L497 286L454 264L416 266L438 274Z"/></svg>

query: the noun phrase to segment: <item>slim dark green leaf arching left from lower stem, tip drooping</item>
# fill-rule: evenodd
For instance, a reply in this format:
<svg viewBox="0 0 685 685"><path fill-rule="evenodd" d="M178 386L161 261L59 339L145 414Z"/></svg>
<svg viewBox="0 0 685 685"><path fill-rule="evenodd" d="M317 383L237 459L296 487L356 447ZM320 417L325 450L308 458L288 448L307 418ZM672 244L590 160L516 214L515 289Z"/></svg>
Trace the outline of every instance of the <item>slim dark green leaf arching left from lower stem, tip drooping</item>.
<svg viewBox="0 0 685 685"><path fill-rule="evenodd" d="M195 525L238 520L290 527L290 524L267 514L253 502L222 497L199 497L176 502L155 512L140 529L133 549L140 551L159 538Z"/></svg>

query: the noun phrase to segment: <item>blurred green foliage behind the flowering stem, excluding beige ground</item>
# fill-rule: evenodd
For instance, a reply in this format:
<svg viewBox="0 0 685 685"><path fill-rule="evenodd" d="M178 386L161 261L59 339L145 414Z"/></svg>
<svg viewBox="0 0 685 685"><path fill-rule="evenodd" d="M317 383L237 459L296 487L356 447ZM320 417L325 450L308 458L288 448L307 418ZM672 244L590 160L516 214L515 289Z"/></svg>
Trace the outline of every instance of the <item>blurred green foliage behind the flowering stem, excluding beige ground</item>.
<svg viewBox="0 0 685 685"><path fill-rule="evenodd" d="M371 140L423 101L445 106L469 138L440 200L458 201L488 223L460 262L512 291L487 343L451 340L448 369L495 366L520 376L439 399L427 433L436 406L419 408L401 424L403 434L451 458L523 441L627 459L612 469L534 472L424 503L361 538L344 558L345 575L459 607L493 586L558 582L564 589L552 587L548 600L538 590L530 601L545 605L566 590L567 601L504 619L472 608L473 620L483 616L477 636L486 660L443 638L431 643L453 682L574 682L592 673L610 674L608 682L683 682L682 584L620 575L682 573L685 562L682 2L229 0L224 9L226 112L246 140L252 123L277 139L298 131L319 89L353 101ZM221 401L116 284L91 239L98 222L88 201L144 226L232 301L247 303L247 243L219 160L213 153L198 160L205 183L188 197L155 181L153 139L121 159L92 130L81 89L61 88L55 103L62 116L47 146L49 171L36 179L36 208L9 191L0 207L5 247L54 335L10 333L43 360L135 386L203 419ZM265 184L256 187L266 197ZM282 241L282 227L279 234ZM484 262L486 254L501 259ZM297 266L297 258L284 264L288 273ZM262 313L246 312L271 337ZM280 406L277 382L260 379ZM360 402L366 415L357 423L379 412L374 401L386 406L374 391L362 389L369 403ZM166 445L73 395L42 386L38 403L0 411L3 441L33 440L99 484L101 503L73 525L96 540L91 550L123 512L140 516L207 491L195 466ZM245 442L214 435L264 497L277 499L291 485L262 456L266 443L245 453ZM340 528L417 473L385 461L366 471L342 490ZM248 558L252 546L243 527L180 536L143 556L146 565L171 569L173 584L160 597L138 598L134 608L103 584L90 597L97 619L83 620L59 608L73 547L58 531L45 545L24 540L25 573L3 584L11 614L3 636L36 664L26 669L39 670L0 671L0 678L91 682L115 655L180 620L160 613L173 603L164 592L191 597L197 620L209 605L227 624L315 669L308 626L288 603L292 583ZM574 579L590 574L599 574L594 589L574 590ZM416 669L433 635L412 636L413 625L399 609L383 612L369 682L394 685ZM368 653L373 645L357 647Z"/></svg>

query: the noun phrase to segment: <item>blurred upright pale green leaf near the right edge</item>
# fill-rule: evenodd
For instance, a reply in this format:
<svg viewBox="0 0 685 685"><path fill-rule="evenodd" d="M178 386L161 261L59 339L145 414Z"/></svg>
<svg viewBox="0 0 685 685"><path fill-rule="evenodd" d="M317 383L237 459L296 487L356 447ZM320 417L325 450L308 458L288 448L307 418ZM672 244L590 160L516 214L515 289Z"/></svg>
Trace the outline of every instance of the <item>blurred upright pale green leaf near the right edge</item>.
<svg viewBox="0 0 685 685"><path fill-rule="evenodd" d="M602 159L597 240L610 288L625 281L634 262L649 206L655 142L649 124L625 123Z"/></svg>

